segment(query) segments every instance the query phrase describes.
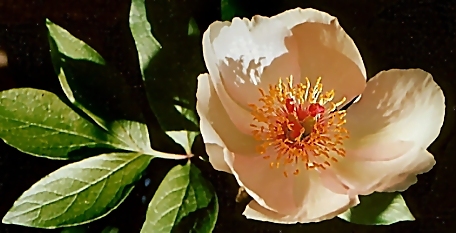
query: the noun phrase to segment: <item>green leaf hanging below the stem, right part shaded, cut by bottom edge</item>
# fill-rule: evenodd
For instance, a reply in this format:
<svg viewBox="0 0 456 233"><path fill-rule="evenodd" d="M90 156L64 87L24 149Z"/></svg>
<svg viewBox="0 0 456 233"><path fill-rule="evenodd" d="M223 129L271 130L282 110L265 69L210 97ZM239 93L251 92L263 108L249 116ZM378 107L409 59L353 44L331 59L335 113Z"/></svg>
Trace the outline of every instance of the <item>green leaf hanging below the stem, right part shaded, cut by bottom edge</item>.
<svg viewBox="0 0 456 233"><path fill-rule="evenodd" d="M171 169L149 203L141 233L209 233L217 221L218 203L211 184L187 163Z"/></svg>

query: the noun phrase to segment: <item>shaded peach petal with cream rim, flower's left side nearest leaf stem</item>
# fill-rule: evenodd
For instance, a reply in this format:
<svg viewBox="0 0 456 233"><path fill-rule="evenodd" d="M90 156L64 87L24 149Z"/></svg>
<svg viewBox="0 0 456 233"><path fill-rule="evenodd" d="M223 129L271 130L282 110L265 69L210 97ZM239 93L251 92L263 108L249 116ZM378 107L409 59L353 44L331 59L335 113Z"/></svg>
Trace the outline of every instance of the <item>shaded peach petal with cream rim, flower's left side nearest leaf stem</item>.
<svg viewBox="0 0 456 233"><path fill-rule="evenodd" d="M200 130L205 143L226 147L236 153L255 153L258 142L250 135L240 132L233 124L208 74L198 77L196 97L196 110L200 116ZM236 115L237 112L232 113Z"/></svg>

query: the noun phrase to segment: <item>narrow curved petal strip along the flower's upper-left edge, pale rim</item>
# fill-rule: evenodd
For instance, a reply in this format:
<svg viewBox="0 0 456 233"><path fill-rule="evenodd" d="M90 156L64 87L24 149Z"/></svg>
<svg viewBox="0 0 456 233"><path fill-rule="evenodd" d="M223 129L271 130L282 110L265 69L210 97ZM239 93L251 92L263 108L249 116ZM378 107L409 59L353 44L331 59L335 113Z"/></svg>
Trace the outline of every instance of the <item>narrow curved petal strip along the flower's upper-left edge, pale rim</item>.
<svg viewBox="0 0 456 233"><path fill-rule="evenodd" d="M226 112L229 112L228 115L231 119L231 122L234 126L244 134L250 134L252 129L250 123L253 118L250 112L238 105L226 92L224 84L220 76L220 71L218 69L217 63L218 60L215 56L214 49L212 47L212 41L218 37L220 30L224 27L229 26L228 22L214 22L209 28L204 32L203 35L203 55L206 67L209 71L209 78L215 91L218 95L220 102L223 105L223 108Z"/></svg>

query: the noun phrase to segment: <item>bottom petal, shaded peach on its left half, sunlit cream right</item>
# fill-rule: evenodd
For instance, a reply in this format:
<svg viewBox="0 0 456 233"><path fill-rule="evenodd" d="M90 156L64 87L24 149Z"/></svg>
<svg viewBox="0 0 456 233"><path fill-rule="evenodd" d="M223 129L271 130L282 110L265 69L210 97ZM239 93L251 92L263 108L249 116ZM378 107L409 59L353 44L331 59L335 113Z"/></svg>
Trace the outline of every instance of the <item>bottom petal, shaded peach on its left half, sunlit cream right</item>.
<svg viewBox="0 0 456 233"><path fill-rule="evenodd" d="M271 168L262 156L235 154L231 170L238 183L258 205L279 215L283 221L320 221L342 213L357 203L356 196L337 194L326 188L316 171L285 177L286 166ZM225 159L229 161L229 156ZM348 207L349 208L349 207ZM339 211L340 210L340 211ZM258 210L257 210L258 211Z"/></svg>

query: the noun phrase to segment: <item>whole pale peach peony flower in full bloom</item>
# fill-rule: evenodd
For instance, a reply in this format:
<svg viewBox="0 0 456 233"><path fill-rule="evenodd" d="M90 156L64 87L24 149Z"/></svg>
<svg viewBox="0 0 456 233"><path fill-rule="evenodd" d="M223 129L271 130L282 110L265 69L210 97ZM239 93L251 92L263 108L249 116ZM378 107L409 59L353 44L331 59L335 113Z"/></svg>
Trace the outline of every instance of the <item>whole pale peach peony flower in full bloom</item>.
<svg viewBox="0 0 456 233"><path fill-rule="evenodd" d="M407 189L435 164L426 149L445 104L432 76L392 69L366 83L356 45L327 13L214 22L203 53L201 133L212 166L253 198L247 218L330 219L358 195Z"/></svg>

